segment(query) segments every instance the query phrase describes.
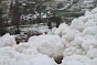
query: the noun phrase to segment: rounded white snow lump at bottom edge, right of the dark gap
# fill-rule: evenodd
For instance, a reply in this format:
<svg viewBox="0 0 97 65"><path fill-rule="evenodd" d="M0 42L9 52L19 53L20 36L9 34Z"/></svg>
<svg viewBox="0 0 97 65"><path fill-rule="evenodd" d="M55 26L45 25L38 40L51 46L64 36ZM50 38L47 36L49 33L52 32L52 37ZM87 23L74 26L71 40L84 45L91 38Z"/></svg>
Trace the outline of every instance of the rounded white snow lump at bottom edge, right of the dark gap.
<svg viewBox="0 0 97 65"><path fill-rule="evenodd" d="M91 59L82 55L67 56L61 65L90 65Z"/></svg>

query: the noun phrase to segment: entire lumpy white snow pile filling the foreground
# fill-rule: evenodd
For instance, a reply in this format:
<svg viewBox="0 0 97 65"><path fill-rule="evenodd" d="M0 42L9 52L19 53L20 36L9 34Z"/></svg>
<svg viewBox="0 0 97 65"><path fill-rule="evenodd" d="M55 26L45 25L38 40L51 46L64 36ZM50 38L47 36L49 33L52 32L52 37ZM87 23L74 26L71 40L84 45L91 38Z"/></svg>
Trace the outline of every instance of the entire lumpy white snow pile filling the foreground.
<svg viewBox="0 0 97 65"><path fill-rule="evenodd" d="M13 35L1 36L0 65L97 65L97 8L69 26L62 23L26 43L18 45Z"/></svg>

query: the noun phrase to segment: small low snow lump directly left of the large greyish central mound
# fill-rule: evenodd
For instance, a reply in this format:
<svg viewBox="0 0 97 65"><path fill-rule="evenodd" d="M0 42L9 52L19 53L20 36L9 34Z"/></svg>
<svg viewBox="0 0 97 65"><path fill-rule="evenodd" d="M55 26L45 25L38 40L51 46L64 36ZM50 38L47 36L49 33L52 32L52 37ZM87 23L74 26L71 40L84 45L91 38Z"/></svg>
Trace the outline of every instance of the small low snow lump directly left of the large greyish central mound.
<svg viewBox="0 0 97 65"><path fill-rule="evenodd" d="M33 46L31 46L31 44L28 43L20 43L19 45L14 45L13 48L19 52L22 53L24 55L36 55L39 54L39 52L33 48Z"/></svg>

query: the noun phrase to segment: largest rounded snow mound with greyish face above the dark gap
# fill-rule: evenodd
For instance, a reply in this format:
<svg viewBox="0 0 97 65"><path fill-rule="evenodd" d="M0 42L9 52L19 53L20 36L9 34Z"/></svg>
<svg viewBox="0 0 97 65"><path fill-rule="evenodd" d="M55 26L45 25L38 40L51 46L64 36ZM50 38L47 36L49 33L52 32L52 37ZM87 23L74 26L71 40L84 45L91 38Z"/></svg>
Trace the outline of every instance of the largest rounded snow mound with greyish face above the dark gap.
<svg viewBox="0 0 97 65"><path fill-rule="evenodd" d="M62 56L64 50L64 43L58 35L32 36L28 43L32 44L32 47L36 48L39 53L54 58Z"/></svg>

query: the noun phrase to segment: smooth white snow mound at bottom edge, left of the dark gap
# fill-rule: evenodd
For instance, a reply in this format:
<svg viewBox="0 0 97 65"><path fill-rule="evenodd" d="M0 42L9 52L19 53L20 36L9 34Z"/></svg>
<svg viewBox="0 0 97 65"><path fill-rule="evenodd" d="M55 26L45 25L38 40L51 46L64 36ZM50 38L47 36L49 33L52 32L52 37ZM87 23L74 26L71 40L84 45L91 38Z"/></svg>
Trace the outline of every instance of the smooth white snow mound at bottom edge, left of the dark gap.
<svg viewBox="0 0 97 65"><path fill-rule="evenodd" d="M22 56L13 65L56 65L53 58L47 55Z"/></svg>

